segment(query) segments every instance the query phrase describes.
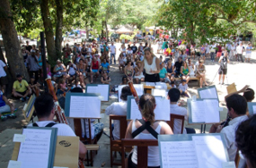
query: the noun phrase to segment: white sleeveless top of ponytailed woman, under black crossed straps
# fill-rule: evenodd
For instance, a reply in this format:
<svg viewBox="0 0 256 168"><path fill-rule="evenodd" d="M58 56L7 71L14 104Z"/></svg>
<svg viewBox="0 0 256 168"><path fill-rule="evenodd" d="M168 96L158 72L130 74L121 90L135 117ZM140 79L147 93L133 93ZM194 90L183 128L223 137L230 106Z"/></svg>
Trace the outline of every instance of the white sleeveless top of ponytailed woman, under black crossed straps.
<svg viewBox="0 0 256 168"><path fill-rule="evenodd" d="M162 122L159 122L155 131L160 135L160 130L162 128ZM132 122L132 132L137 130L135 126L135 121ZM134 139L155 139L153 135L150 133L139 133ZM131 156L131 160L134 164L137 164L137 147L134 147L133 155ZM159 148L158 147L148 147L148 159L147 166L159 166L160 158L159 158Z"/></svg>

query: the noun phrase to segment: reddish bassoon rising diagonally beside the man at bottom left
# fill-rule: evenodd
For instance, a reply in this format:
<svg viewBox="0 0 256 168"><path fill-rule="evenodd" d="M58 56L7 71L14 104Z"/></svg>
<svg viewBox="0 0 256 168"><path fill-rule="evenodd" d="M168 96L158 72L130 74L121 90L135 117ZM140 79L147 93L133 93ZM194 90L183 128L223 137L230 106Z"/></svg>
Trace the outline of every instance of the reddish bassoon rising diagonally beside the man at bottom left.
<svg viewBox="0 0 256 168"><path fill-rule="evenodd" d="M66 123L68 125L68 122L66 120L66 115L65 115L65 113L62 112L61 107L57 103L57 96L56 96L54 88L52 86L51 79L49 79L49 78L46 79L46 82L47 82L47 86L49 88L49 94L53 97L53 99L55 101L55 105L57 106L57 108L55 110L55 115L56 115L56 118L57 118L57 122ZM65 96L66 96L66 92L64 92L64 97ZM79 161L78 161L78 165L79 165L79 168L84 168L83 160L81 160L80 158L79 158Z"/></svg>

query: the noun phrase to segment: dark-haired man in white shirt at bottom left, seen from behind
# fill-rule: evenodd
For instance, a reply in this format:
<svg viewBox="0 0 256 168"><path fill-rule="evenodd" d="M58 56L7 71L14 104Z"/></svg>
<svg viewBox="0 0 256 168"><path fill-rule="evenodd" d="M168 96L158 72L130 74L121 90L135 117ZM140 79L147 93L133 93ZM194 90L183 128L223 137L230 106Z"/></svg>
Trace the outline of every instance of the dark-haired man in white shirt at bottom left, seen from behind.
<svg viewBox="0 0 256 168"><path fill-rule="evenodd" d="M57 136L76 136L75 132L66 123L53 122L56 113L56 105L51 95L44 94L37 97L34 103L34 108L39 121L31 123L28 126L57 128ZM85 155L86 147L79 141L79 158L84 160Z"/></svg>

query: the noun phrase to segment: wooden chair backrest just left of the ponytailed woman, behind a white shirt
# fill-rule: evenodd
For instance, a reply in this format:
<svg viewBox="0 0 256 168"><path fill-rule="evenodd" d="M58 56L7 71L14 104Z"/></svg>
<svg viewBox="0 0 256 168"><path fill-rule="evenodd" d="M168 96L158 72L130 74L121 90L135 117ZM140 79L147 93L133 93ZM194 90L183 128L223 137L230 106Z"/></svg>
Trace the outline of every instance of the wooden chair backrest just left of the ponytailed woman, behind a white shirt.
<svg viewBox="0 0 256 168"><path fill-rule="evenodd" d="M119 126L119 138L120 139L124 139L125 136L126 136L126 131L127 131L127 127L128 127L128 122L127 122L127 116L126 115L113 115L113 114L110 114L110 140L111 140L111 137L112 137L112 129L111 129L111 122L113 120L117 120L120 122ZM120 140L119 139L119 140Z"/></svg>

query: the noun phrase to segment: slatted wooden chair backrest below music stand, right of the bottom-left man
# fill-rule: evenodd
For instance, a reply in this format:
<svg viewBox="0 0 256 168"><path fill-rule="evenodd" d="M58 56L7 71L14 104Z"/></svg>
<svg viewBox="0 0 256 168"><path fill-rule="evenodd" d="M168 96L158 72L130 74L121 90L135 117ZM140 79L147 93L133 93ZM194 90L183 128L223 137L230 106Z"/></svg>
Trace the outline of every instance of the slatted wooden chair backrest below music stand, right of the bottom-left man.
<svg viewBox="0 0 256 168"><path fill-rule="evenodd" d="M89 137L86 137L86 127L85 127L85 121L82 123L81 119L74 119L74 129L75 129L75 135L80 138L82 142L87 141L88 144L92 144L92 132L91 132L91 119L84 119L88 120L89 122ZM84 137L83 137L83 130L82 126L84 127Z"/></svg>

